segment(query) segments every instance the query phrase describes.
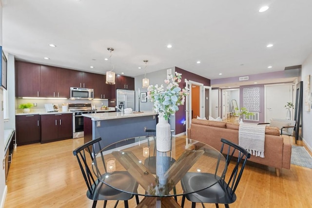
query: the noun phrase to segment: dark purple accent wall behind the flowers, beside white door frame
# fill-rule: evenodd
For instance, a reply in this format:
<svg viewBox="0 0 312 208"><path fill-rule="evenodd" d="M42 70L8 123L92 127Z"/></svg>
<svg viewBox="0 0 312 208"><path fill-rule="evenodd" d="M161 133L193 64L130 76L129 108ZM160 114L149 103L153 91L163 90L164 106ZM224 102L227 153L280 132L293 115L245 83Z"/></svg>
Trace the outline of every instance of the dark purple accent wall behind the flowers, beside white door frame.
<svg viewBox="0 0 312 208"><path fill-rule="evenodd" d="M182 81L179 83L180 88L185 87L185 79L203 83L205 86L210 86L210 79L195 75L178 67L175 67L175 71L182 74ZM179 106L179 110L176 112L176 134L186 131L185 125L183 125L183 121L185 121L185 110L185 105L182 105Z"/></svg>

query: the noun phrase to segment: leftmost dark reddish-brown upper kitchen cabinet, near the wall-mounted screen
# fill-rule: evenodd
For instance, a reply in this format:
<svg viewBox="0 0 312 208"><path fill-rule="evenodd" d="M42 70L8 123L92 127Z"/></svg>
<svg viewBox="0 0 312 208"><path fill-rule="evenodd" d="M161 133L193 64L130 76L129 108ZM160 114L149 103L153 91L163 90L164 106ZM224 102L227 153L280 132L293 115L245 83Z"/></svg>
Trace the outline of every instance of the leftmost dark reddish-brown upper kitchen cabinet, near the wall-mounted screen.
<svg viewBox="0 0 312 208"><path fill-rule="evenodd" d="M40 65L16 62L16 95L18 97L39 97Z"/></svg>

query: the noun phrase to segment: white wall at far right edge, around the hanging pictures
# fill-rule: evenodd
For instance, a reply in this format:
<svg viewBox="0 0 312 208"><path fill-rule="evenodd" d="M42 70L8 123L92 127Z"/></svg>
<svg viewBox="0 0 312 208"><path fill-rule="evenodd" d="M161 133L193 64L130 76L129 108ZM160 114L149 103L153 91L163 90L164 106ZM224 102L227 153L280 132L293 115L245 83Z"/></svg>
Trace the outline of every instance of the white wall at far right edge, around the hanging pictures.
<svg viewBox="0 0 312 208"><path fill-rule="evenodd" d="M312 76L312 54L304 61L302 64L302 71L301 71L301 80L305 81L305 77L307 75ZM310 83L311 84L311 83ZM303 83L305 86L305 83ZM304 90L303 90L304 91ZM305 100L305 95L303 94L303 101ZM304 106L302 106L302 135L303 140L309 149L312 151L312 109L310 112L304 110Z"/></svg>

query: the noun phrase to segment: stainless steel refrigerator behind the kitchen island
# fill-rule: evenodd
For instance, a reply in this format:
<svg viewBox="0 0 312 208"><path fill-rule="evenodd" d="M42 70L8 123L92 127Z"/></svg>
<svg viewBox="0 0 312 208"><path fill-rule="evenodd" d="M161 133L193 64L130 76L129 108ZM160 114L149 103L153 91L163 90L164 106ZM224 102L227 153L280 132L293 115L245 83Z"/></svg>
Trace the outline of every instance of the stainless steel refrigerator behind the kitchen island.
<svg viewBox="0 0 312 208"><path fill-rule="evenodd" d="M135 111L135 91L134 90L117 90L116 104L119 109L132 108Z"/></svg>

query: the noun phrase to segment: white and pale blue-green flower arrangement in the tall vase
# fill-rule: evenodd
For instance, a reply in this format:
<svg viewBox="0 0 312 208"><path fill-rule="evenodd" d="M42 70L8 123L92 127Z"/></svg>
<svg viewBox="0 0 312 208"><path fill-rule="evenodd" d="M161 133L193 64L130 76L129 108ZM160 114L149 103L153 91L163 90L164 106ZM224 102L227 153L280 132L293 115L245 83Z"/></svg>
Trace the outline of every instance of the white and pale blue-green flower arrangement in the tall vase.
<svg viewBox="0 0 312 208"><path fill-rule="evenodd" d="M159 114L158 117L168 119L171 114L179 110L179 105L184 105L188 89L185 87L181 90L179 87L181 78L182 74L176 72L175 76L171 75L165 79L165 83L168 84L166 91L163 85L158 86L157 84L147 88L147 98L154 102L153 110Z"/></svg>

